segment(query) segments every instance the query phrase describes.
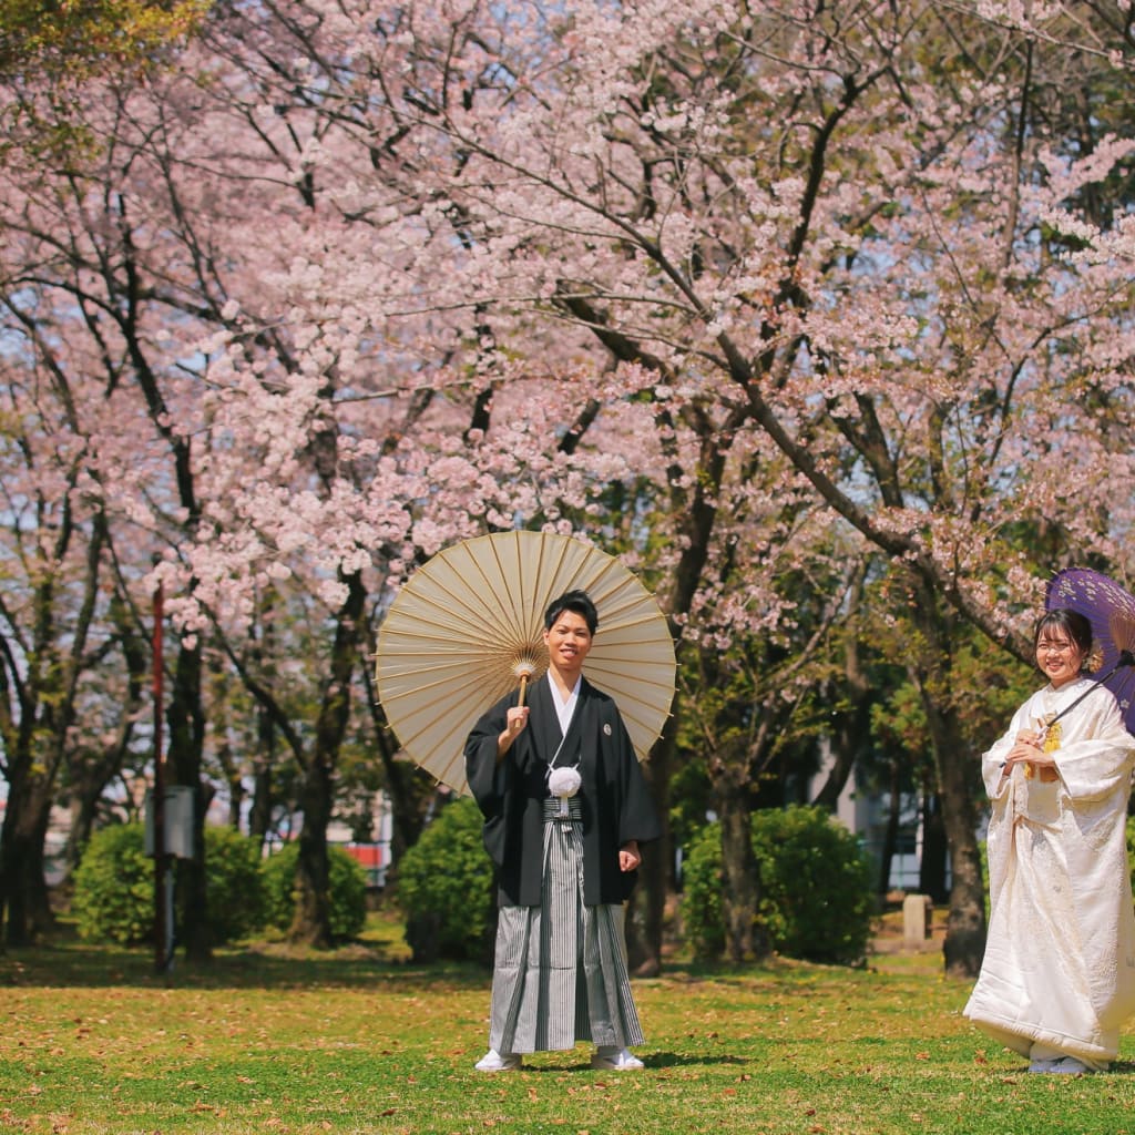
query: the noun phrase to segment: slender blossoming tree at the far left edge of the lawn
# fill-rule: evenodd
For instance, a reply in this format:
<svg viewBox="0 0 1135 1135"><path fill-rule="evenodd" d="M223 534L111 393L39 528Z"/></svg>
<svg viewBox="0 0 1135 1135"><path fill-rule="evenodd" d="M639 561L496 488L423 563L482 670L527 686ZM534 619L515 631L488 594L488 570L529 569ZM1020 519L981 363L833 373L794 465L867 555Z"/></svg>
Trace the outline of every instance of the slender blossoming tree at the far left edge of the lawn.
<svg viewBox="0 0 1135 1135"><path fill-rule="evenodd" d="M18 289L0 314L5 348L0 495L5 589L0 598L0 760L7 781L0 830L0 938L33 941L52 923L44 838L61 780L85 802L116 771L129 741L136 689L91 697L128 639L108 611L109 526L84 491L86 422L57 359L50 312ZM112 591L111 591L112 594ZM109 665L108 665L109 664ZM114 686L114 679L109 679ZM79 712L104 711L101 730ZM92 715L93 717L93 715ZM100 759L89 759L96 750ZM109 756L109 765L108 765Z"/></svg>

